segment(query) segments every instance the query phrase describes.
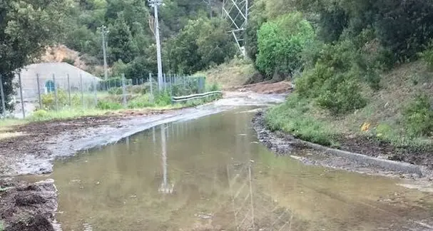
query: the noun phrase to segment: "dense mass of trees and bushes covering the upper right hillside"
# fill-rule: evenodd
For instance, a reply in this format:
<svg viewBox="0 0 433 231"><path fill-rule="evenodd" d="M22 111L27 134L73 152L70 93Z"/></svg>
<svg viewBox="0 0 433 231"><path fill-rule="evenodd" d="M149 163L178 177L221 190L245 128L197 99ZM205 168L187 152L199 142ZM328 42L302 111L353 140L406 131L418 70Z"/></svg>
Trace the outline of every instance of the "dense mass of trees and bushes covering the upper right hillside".
<svg viewBox="0 0 433 231"><path fill-rule="evenodd" d="M272 78L300 69L299 96L334 114L365 107L362 86L379 90L387 68L420 56L433 63L431 0L258 0L255 7L247 51L258 71Z"/></svg>

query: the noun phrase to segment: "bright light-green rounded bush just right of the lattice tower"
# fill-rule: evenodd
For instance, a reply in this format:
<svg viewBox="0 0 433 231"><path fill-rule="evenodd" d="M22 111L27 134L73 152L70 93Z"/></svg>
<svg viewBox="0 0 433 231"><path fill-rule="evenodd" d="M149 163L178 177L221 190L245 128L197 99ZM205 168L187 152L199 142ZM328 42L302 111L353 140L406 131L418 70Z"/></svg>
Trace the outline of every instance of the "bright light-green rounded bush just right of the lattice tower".
<svg viewBox="0 0 433 231"><path fill-rule="evenodd" d="M258 31L258 71L267 76L291 76L303 65L301 53L314 37L312 26L300 13L263 24Z"/></svg>

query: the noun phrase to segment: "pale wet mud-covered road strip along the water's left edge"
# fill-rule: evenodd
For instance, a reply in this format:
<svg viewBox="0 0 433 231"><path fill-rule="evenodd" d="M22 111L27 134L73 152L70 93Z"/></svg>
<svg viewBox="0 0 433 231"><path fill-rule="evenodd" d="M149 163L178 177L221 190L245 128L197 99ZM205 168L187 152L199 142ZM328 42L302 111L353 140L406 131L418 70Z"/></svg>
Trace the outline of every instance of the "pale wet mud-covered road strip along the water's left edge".
<svg viewBox="0 0 433 231"><path fill-rule="evenodd" d="M0 143L0 176L51 173L54 158L68 157L81 150L116 143L153 126L191 120L238 106L280 103L284 95L227 93L225 98L196 108L107 113L103 116L29 123L9 132L23 135Z"/></svg>

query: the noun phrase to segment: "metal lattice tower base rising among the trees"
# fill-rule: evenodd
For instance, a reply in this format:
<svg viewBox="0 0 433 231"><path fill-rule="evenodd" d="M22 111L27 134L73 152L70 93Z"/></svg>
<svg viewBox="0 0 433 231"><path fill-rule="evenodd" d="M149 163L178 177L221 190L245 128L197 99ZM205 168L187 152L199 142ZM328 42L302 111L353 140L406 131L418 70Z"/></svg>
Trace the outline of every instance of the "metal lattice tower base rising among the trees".
<svg viewBox="0 0 433 231"><path fill-rule="evenodd" d="M223 0L222 16L230 22L233 37L243 56L245 56L245 30L248 25L250 0Z"/></svg>

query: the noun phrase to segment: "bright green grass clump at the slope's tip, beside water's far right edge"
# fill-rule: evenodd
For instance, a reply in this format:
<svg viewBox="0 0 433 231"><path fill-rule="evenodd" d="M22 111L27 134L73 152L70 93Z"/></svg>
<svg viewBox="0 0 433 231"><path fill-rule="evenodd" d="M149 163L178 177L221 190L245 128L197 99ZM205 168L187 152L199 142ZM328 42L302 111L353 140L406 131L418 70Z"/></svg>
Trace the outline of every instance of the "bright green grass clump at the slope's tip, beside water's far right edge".
<svg viewBox="0 0 433 231"><path fill-rule="evenodd" d="M281 130L312 143L338 146L337 131L329 123L310 116L311 109L310 103L294 93L285 103L271 108L265 121L271 130Z"/></svg>

